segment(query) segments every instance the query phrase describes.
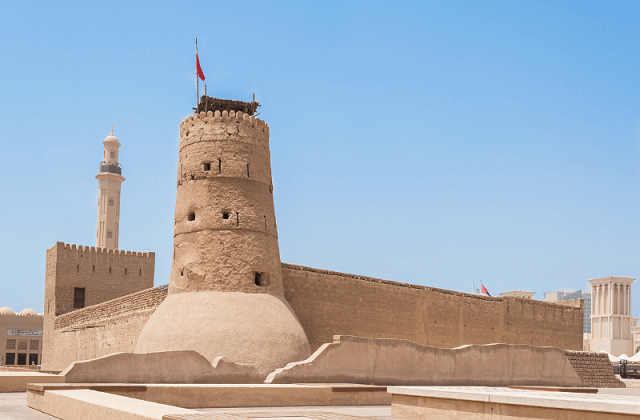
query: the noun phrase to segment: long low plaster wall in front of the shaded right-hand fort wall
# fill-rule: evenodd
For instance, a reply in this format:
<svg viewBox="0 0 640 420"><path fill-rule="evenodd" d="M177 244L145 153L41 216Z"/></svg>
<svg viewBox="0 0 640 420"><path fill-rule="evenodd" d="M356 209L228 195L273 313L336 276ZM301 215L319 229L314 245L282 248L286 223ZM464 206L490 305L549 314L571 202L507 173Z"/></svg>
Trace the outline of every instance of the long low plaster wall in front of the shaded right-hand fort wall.
<svg viewBox="0 0 640 420"><path fill-rule="evenodd" d="M454 349L406 340L336 336L309 359L269 374L266 383L582 386L564 350L523 344Z"/></svg>

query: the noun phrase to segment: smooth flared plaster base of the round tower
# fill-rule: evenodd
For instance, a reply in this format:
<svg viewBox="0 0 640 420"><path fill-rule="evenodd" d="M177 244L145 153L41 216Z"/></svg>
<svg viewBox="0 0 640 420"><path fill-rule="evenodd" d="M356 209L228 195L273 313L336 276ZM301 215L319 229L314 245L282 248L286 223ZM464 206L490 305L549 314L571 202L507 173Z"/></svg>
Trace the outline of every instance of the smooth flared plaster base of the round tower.
<svg viewBox="0 0 640 420"><path fill-rule="evenodd" d="M145 325L136 353L195 350L254 365L266 376L310 356L307 336L281 296L266 293L169 294Z"/></svg>

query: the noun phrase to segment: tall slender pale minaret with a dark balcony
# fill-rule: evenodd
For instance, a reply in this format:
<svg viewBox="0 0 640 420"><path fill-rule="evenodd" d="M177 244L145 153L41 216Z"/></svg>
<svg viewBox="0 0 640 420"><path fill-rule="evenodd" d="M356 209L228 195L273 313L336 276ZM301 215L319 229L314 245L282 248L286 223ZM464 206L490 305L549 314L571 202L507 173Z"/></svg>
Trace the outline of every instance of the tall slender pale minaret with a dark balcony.
<svg viewBox="0 0 640 420"><path fill-rule="evenodd" d="M118 163L120 142L111 134L102 142L104 160L100 162L100 172L96 175L99 181L98 196L98 231L96 246L118 249L118 233L120 227L120 184L124 181L122 166Z"/></svg>

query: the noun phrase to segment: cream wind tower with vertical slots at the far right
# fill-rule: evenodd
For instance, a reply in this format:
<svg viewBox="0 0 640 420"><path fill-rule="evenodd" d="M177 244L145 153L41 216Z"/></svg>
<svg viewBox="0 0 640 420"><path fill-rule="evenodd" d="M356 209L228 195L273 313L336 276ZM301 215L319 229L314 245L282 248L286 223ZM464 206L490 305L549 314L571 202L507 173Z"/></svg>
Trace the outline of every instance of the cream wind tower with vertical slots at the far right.
<svg viewBox="0 0 640 420"><path fill-rule="evenodd" d="M591 337L589 350L614 356L634 354L631 336L631 284L627 277L603 277L591 284Z"/></svg>

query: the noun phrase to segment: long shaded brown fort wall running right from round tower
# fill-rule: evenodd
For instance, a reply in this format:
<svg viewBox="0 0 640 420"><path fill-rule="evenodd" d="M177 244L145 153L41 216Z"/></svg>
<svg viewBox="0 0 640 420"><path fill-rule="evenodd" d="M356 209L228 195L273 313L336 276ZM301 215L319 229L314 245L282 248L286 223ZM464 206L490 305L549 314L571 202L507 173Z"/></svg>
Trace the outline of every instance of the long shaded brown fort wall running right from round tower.
<svg viewBox="0 0 640 420"><path fill-rule="evenodd" d="M334 335L435 347L531 344L582 350L582 306L485 297L282 264L285 298L311 351ZM579 304L581 305L581 304Z"/></svg>

